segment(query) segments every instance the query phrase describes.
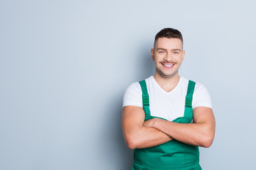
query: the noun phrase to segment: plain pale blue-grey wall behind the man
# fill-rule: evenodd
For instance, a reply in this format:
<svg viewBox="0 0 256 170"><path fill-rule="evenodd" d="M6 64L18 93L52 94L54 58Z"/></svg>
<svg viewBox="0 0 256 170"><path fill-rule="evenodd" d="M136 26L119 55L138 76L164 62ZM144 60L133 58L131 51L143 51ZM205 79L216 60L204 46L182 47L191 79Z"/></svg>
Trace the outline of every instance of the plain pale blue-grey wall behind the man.
<svg viewBox="0 0 256 170"><path fill-rule="evenodd" d="M131 169L129 84L154 74L161 28L181 30L180 74L210 92L203 169L254 169L254 1L0 1L0 169Z"/></svg>

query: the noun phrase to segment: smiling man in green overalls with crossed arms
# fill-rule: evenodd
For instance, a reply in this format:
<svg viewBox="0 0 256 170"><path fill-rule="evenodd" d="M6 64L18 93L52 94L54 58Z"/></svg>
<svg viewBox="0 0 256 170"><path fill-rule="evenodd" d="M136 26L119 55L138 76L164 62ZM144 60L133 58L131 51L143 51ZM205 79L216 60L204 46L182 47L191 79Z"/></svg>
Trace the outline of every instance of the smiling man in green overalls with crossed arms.
<svg viewBox="0 0 256 170"><path fill-rule="evenodd" d="M124 94L122 128L134 149L132 169L201 169L198 146L212 144L215 118L206 88L178 75L184 55L181 33L164 28L151 49L154 77Z"/></svg>

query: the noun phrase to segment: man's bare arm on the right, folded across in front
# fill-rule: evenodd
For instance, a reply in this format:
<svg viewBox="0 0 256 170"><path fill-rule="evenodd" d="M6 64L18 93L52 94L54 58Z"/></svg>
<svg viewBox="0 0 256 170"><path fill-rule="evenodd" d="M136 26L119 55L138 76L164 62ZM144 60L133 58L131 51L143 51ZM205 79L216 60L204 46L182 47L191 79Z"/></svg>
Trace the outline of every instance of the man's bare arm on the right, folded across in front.
<svg viewBox="0 0 256 170"><path fill-rule="evenodd" d="M207 107L193 109L193 123L174 123L159 118L146 122L147 127L156 128L174 140L189 145L210 147L215 135L213 110Z"/></svg>

